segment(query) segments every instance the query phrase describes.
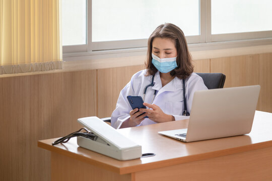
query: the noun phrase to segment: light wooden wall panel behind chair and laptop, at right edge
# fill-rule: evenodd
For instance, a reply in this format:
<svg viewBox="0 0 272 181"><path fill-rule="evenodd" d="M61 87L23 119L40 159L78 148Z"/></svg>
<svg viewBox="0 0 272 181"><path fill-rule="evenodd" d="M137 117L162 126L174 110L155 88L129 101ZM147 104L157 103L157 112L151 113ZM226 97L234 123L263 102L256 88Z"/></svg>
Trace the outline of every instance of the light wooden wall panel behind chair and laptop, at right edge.
<svg viewBox="0 0 272 181"><path fill-rule="evenodd" d="M211 72L226 75L224 87L260 84L257 110L272 112L272 53L211 59Z"/></svg>

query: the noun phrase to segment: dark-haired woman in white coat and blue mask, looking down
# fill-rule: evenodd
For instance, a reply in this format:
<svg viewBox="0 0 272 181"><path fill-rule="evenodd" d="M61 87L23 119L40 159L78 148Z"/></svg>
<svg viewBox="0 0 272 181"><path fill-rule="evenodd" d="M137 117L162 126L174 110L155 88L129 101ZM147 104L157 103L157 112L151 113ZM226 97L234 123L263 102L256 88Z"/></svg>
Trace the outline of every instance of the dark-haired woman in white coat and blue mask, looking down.
<svg viewBox="0 0 272 181"><path fill-rule="evenodd" d="M194 92L207 89L202 78L193 73L183 32L173 24L160 25L151 34L145 65L146 69L135 73L120 92L111 115L111 125L116 129L188 119L188 114L182 115L183 82L188 112L191 111ZM152 79L154 86L149 86L144 96ZM150 109L131 110L127 96L141 96L144 105Z"/></svg>

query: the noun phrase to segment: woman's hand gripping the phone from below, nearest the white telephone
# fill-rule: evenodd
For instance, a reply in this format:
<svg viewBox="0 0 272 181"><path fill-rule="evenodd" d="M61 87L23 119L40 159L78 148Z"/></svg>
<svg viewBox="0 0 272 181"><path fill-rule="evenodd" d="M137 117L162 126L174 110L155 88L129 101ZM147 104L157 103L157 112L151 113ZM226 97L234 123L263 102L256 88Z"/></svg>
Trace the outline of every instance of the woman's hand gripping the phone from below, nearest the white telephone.
<svg viewBox="0 0 272 181"><path fill-rule="evenodd" d="M146 117L146 114L143 114L143 113L145 112L139 111L138 108L131 110L129 112L130 118L124 121L120 128L129 128L129 127L134 127L139 125Z"/></svg>

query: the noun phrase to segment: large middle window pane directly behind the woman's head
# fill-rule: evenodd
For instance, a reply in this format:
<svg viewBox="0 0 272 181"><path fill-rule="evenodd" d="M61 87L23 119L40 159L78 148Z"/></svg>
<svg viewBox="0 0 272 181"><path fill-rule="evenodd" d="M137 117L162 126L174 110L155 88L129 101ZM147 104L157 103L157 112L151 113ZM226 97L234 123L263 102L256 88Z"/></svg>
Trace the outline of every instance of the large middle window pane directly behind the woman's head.
<svg viewBox="0 0 272 181"><path fill-rule="evenodd" d="M179 26L186 36L199 36L199 1L92 1L91 50L145 47L150 34L165 22Z"/></svg>

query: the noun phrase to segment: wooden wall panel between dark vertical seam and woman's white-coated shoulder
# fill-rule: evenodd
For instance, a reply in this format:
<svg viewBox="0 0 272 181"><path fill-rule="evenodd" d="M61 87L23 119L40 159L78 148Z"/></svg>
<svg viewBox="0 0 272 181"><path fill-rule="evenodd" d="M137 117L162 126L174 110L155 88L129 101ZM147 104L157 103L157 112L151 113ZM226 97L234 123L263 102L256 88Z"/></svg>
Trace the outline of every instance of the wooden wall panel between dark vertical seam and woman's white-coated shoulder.
<svg viewBox="0 0 272 181"><path fill-rule="evenodd" d="M99 118L111 116L121 89L130 81L134 73L143 69L144 65L135 65L98 70L97 115Z"/></svg>

